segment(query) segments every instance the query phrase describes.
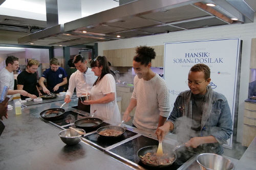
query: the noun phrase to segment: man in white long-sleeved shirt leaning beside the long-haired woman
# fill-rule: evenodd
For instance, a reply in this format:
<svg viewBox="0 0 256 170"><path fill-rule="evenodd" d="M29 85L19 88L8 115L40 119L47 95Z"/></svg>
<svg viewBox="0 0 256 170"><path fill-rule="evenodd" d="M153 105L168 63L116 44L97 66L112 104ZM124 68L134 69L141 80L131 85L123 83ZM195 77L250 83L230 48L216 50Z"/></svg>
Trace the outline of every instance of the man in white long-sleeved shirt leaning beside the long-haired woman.
<svg viewBox="0 0 256 170"><path fill-rule="evenodd" d="M73 59L73 63L76 67L69 79L69 89L67 90L65 102L71 102L71 96L76 88L76 95L79 97L82 93L91 93L94 82L98 78L94 75L91 68L87 67L87 60L82 55L76 55ZM90 113L90 105L83 105L80 98L78 99L77 109Z"/></svg>

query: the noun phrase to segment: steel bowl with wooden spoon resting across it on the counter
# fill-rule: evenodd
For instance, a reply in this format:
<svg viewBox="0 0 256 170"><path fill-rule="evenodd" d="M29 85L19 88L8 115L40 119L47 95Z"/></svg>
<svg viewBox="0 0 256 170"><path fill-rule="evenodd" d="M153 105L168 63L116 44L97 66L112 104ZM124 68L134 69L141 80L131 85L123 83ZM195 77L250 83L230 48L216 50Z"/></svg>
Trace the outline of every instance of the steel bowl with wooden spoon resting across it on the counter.
<svg viewBox="0 0 256 170"><path fill-rule="evenodd" d="M78 129L76 128L78 131L84 132L85 131L83 129ZM80 137L82 135L80 135L78 132L72 130L72 129L65 129L59 132L59 137L60 139L68 144L68 145L75 145L77 143L79 143L81 141Z"/></svg>

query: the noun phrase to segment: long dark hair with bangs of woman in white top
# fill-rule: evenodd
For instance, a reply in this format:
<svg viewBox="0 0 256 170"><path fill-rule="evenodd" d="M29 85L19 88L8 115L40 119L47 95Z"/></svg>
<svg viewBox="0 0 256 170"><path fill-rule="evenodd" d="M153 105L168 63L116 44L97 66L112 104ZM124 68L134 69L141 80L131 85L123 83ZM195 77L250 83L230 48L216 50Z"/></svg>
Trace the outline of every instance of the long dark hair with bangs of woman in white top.
<svg viewBox="0 0 256 170"><path fill-rule="evenodd" d="M94 82L93 85L96 85L96 82L100 82L100 80L106 75L106 74L111 74L110 72L110 67L109 67L109 63L108 60L106 59L105 56L98 56L97 58L95 58L94 60L92 60L91 62L91 67L100 67L102 66L102 72L101 75L98 77L98 79Z"/></svg>

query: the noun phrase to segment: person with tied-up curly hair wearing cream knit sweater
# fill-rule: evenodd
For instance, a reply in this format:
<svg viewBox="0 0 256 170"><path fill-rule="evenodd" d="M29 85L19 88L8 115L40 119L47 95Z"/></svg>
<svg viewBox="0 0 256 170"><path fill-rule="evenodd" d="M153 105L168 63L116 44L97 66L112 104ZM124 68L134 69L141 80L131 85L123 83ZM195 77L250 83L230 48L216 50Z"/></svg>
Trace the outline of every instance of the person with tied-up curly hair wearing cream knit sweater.
<svg viewBox="0 0 256 170"><path fill-rule="evenodd" d="M151 60L156 57L154 48L139 46L136 54L133 58L137 74L134 78L134 91L123 120L129 121L130 112L137 106L133 126L155 133L170 114L169 91L165 81L151 69Z"/></svg>

